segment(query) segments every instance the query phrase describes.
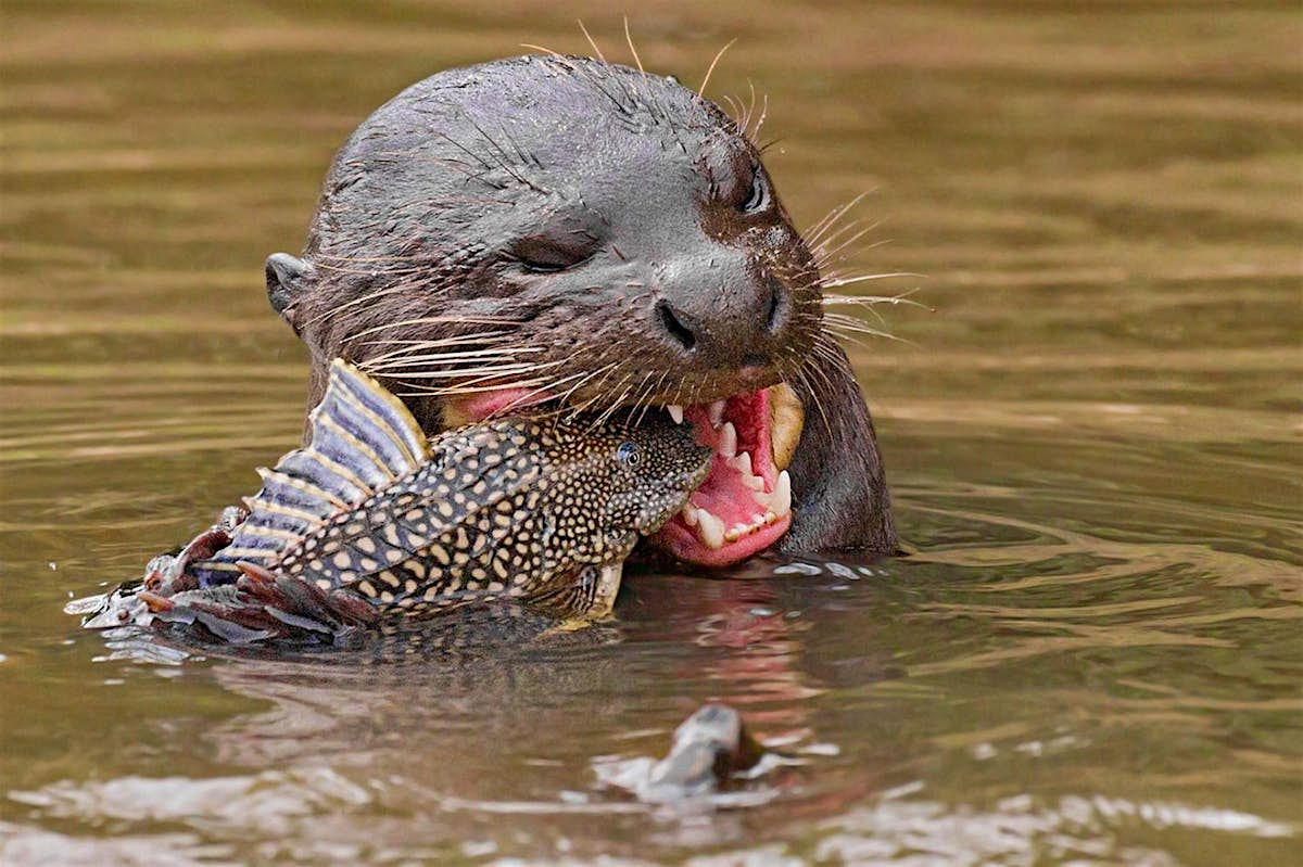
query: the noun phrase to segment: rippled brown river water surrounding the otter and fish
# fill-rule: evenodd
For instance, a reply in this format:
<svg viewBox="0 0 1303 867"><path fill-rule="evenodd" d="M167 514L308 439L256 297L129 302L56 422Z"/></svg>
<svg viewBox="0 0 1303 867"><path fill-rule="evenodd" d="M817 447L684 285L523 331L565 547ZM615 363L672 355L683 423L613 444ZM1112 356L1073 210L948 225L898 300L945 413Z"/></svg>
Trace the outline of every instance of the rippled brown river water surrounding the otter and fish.
<svg viewBox="0 0 1303 867"><path fill-rule="evenodd" d="M262 259L353 125L576 17L625 57L619 17L52 7L0 39L0 862L1298 863L1296 4L637 4L685 82L739 36L710 92L769 95L803 225L872 190L848 267L928 275L853 350L919 553L642 574L609 629L404 667L61 609L296 443ZM601 785L708 699L788 762Z"/></svg>

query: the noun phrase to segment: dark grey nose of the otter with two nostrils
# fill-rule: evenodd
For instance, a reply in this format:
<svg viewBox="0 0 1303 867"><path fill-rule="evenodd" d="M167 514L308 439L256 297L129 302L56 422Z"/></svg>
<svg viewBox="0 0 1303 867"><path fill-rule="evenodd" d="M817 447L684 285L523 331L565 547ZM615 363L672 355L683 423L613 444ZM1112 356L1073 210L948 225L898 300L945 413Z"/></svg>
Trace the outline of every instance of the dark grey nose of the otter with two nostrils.
<svg viewBox="0 0 1303 867"><path fill-rule="evenodd" d="M787 322L788 290L773 275L655 303L668 342L728 367L764 367Z"/></svg>

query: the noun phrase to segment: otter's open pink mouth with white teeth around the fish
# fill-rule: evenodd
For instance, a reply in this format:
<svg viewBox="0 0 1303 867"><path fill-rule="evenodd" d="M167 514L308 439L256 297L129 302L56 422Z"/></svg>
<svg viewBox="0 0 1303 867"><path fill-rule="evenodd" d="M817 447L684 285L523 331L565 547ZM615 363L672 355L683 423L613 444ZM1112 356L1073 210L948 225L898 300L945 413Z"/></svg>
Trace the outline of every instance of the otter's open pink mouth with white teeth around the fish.
<svg viewBox="0 0 1303 867"><path fill-rule="evenodd" d="M480 420L547 401L517 389L489 391L456 401L455 414ZM787 473L804 426L800 400L786 383L724 400L666 406L678 423L691 423L700 445L711 449L705 479L650 540L679 560L708 568L731 566L775 544L792 523L792 480Z"/></svg>

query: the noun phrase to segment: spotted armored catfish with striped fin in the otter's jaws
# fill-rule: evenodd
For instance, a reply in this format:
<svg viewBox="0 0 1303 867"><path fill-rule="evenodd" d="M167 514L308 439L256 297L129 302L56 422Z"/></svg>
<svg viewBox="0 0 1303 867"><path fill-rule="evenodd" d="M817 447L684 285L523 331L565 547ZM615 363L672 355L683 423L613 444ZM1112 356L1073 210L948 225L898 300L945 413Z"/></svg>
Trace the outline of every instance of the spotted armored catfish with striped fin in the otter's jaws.
<svg viewBox="0 0 1303 867"><path fill-rule="evenodd" d="M344 359L308 445L89 627L198 622L219 638L332 639L390 617L512 600L595 620L623 564L706 478L713 450L667 414L507 417L427 439Z"/></svg>

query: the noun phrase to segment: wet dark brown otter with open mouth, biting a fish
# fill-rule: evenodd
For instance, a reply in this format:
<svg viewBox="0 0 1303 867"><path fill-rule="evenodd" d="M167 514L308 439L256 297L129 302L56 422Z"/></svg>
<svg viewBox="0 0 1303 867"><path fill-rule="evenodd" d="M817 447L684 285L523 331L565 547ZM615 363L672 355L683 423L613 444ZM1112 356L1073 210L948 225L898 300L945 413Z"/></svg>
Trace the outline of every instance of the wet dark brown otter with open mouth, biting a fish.
<svg viewBox="0 0 1303 867"><path fill-rule="evenodd" d="M851 301L826 290L856 279L823 273L846 236L794 228L753 135L675 79L601 59L413 85L336 155L302 256L267 259L271 305L310 349L309 406L335 357L431 435L665 406L714 456L659 549L704 566L774 545L896 552L835 341L856 327L825 312Z"/></svg>

